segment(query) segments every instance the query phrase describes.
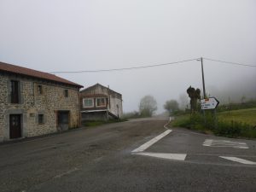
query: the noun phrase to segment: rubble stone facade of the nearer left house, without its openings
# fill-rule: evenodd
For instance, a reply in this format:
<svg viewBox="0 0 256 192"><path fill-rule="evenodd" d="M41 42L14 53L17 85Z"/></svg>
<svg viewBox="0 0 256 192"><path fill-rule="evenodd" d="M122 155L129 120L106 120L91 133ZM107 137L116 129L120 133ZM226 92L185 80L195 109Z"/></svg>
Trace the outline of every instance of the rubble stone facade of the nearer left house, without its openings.
<svg viewBox="0 0 256 192"><path fill-rule="evenodd" d="M20 103L9 101L10 80L20 84ZM38 85L42 93L38 93ZM69 128L79 127L79 88L46 80L0 73L0 141L9 140L9 114L21 114L22 137L33 137L57 131L58 111L69 111ZM65 96L65 90L68 96ZM38 114L44 123L38 124Z"/></svg>

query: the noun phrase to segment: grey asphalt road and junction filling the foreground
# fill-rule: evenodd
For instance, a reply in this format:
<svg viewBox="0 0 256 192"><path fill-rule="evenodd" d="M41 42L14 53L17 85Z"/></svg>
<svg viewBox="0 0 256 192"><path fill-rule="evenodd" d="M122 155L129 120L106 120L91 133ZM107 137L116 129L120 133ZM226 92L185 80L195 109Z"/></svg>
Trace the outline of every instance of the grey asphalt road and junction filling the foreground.
<svg viewBox="0 0 256 192"><path fill-rule="evenodd" d="M171 128L132 153L166 122L137 119L0 145L0 191L256 191L255 141Z"/></svg>

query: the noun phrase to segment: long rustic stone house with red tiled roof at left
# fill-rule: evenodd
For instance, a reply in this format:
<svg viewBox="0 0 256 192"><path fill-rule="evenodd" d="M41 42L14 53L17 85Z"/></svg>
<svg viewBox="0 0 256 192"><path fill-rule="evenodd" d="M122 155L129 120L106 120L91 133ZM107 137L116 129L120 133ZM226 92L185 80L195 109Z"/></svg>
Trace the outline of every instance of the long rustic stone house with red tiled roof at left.
<svg viewBox="0 0 256 192"><path fill-rule="evenodd" d="M53 74L0 62L0 141L79 127L82 87Z"/></svg>

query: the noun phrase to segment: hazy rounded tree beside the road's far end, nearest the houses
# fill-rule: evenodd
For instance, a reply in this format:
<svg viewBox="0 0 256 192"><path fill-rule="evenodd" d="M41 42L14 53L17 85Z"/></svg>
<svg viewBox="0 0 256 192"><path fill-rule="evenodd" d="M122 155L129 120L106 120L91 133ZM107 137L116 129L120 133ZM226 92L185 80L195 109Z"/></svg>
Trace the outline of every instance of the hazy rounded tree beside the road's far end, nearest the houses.
<svg viewBox="0 0 256 192"><path fill-rule="evenodd" d="M139 111L143 117L151 117L157 110L157 102L153 96L144 96L139 105Z"/></svg>

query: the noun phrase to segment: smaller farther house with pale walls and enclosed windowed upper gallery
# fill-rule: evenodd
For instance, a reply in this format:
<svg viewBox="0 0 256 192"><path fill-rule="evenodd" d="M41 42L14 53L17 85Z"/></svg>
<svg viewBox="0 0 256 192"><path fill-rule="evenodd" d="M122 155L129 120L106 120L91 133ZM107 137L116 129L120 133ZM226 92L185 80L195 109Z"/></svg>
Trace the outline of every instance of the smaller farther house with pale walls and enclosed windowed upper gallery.
<svg viewBox="0 0 256 192"><path fill-rule="evenodd" d="M82 121L119 119L123 115L122 95L102 84L80 91Z"/></svg>

